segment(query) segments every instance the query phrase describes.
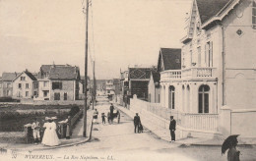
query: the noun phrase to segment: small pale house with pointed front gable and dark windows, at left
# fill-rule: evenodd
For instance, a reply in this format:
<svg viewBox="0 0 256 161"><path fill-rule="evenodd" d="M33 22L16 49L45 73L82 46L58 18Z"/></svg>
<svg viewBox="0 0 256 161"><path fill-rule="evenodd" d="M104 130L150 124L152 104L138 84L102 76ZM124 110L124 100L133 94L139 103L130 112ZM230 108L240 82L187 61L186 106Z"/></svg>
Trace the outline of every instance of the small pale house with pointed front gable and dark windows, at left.
<svg viewBox="0 0 256 161"><path fill-rule="evenodd" d="M38 96L38 82L28 70L13 80L14 98L33 98Z"/></svg>

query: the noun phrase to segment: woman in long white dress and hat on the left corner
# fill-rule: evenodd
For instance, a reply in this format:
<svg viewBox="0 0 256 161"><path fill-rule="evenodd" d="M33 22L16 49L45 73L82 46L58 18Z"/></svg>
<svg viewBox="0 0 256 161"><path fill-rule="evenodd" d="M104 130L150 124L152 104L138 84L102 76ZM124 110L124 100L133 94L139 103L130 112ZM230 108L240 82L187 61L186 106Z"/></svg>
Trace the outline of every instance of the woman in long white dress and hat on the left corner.
<svg viewBox="0 0 256 161"><path fill-rule="evenodd" d="M56 146L60 143L58 135L56 133L56 124L52 118L49 118L48 123L44 123L43 127L46 128L42 138L42 144L48 146Z"/></svg>

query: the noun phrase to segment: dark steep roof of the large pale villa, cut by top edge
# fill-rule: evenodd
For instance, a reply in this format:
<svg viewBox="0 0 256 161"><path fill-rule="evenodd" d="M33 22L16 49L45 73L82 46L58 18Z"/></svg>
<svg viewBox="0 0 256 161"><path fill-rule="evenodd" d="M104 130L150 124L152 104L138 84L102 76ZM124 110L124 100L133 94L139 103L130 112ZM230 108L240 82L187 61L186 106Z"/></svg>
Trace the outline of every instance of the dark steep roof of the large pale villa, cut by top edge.
<svg viewBox="0 0 256 161"><path fill-rule="evenodd" d="M201 23L218 16L219 12L234 0L196 0Z"/></svg>

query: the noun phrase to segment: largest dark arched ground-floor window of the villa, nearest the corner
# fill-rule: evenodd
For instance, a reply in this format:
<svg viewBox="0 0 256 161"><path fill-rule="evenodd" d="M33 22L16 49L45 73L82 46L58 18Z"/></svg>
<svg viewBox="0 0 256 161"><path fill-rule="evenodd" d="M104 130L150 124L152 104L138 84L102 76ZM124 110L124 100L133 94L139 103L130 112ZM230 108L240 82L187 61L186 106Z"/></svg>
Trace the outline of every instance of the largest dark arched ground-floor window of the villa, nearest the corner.
<svg viewBox="0 0 256 161"><path fill-rule="evenodd" d="M198 113L209 113L209 92L208 85L201 85L198 92Z"/></svg>

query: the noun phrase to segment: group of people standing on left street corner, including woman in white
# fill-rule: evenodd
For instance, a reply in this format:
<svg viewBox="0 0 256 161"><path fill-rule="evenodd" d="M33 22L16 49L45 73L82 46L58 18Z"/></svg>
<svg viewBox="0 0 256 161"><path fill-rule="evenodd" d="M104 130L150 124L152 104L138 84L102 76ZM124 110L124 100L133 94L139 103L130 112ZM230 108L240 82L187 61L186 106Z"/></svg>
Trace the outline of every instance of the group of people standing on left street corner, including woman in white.
<svg viewBox="0 0 256 161"><path fill-rule="evenodd" d="M56 117L46 117L45 123L42 128L45 129L43 133L40 132L41 126L36 118L32 123L32 136L34 139L34 144L38 144L40 141L43 145L56 146L60 144L60 140L57 134L57 125L54 122ZM71 136L71 117L63 121L67 125L66 127L66 138L69 139ZM42 138L41 138L42 135Z"/></svg>

